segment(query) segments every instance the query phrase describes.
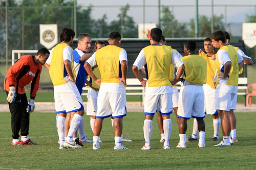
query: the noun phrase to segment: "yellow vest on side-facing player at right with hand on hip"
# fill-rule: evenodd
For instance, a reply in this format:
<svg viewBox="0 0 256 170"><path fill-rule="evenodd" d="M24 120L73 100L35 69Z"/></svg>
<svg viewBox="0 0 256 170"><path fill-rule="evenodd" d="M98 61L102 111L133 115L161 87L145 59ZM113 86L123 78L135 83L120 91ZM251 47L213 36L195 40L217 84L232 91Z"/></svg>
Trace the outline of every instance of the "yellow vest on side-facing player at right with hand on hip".
<svg viewBox="0 0 256 170"><path fill-rule="evenodd" d="M239 72L239 67L238 67L238 54L236 49L232 45L225 45L222 46L219 50L225 50L229 58L231 60L231 69L229 72L229 78L227 80L227 85L232 85L232 86L238 86L238 72ZM219 58L217 57L217 63L219 63ZM219 72L220 68L218 67L218 78L217 78L217 84L219 84Z"/></svg>

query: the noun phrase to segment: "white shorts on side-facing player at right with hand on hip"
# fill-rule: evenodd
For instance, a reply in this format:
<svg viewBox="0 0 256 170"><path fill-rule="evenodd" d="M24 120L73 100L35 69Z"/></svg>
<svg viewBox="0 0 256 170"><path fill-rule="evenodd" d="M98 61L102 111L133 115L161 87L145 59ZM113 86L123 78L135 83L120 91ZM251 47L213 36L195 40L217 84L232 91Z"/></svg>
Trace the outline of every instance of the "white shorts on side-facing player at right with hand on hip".
<svg viewBox="0 0 256 170"><path fill-rule="evenodd" d="M237 95L235 93L216 91L216 106L217 110L229 111L236 109Z"/></svg>

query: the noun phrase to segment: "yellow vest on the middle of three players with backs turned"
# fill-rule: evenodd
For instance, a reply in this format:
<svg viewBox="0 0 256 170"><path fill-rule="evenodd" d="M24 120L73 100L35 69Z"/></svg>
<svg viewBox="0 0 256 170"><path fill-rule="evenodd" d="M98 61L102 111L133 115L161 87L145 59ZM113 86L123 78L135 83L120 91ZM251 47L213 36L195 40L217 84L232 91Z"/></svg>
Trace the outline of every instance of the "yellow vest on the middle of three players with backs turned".
<svg viewBox="0 0 256 170"><path fill-rule="evenodd" d="M143 48L148 74L148 87L172 86L170 83L170 62L172 47L167 45L148 45Z"/></svg>

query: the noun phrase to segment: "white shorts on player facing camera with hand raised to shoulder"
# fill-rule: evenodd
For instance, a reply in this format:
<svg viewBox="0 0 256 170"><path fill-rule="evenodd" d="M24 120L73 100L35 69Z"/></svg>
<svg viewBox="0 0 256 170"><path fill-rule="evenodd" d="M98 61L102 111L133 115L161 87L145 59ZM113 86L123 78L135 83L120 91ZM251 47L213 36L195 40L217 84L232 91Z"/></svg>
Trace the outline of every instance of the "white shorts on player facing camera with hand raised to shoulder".
<svg viewBox="0 0 256 170"><path fill-rule="evenodd" d="M204 84L204 112L208 115L218 114L215 109L215 89Z"/></svg>

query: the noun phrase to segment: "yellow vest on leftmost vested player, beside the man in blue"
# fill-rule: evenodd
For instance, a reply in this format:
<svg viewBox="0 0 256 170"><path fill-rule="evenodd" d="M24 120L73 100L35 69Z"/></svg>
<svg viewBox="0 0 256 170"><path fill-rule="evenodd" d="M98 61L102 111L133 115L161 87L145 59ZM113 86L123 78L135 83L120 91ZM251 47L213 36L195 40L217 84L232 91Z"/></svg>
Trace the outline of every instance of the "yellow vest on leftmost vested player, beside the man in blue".
<svg viewBox="0 0 256 170"><path fill-rule="evenodd" d="M63 63L63 49L69 46L66 43L57 44L52 51L52 60L50 64L49 74L54 86L65 84L67 81L64 79L64 63ZM71 48L71 47L70 47ZM73 55L71 48L71 65L74 78L76 78Z"/></svg>

